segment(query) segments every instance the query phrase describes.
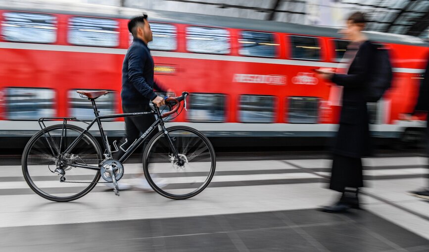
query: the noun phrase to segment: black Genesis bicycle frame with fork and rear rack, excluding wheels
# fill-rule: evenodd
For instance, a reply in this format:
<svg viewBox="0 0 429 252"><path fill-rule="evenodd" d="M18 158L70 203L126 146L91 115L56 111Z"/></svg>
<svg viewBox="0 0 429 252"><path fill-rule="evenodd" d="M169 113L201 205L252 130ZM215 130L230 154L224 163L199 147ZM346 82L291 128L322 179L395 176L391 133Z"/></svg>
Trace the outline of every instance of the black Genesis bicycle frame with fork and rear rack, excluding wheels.
<svg viewBox="0 0 429 252"><path fill-rule="evenodd" d="M140 138L138 138L133 144L131 144L131 146L130 147L128 147L128 149L125 151L125 153L122 155L122 157L120 157L119 158L119 161L120 162L124 162L125 160L127 160L127 158L128 157L130 157L130 155L144 142L144 140L146 139L146 137L147 136L149 136L150 135L150 133L152 133L152 131L156 128L156 127L158 127L158 126L160 126L161 127L161 130L164 132L164 134L166 135L166 137L167 137L167 139L168 139L168 141L169 141L169 144L170 144L170 147L172 148L172 150L173 150L173 154L175 155L175 157L177 158L177 160L178 160L178 152L177 152L177 150L176 150L176 148L174 147L174 145L173 145L173 142L171 141L171 139L170 139L170 137L169 137L169 135L168 135L168 132L167 132L167 130L166 130L166 128L165 128L165 126L164 126L164 121L162 120L162 117L161 117L161 112L159 111L159 108L156 106L156 105L154 105L154 107L155 107L155 109L154 110L151 110L151 111L149 111L149 112L136 112L136 113L123 113L123 114L110 114L110 115L99 115L99 112L100 111L98 111L97 110L97 107L96 107L96 105L95 105L95 100L94 99L88 99L88 100L90 100L91 102L92 102L92 104L93 104L93 108L94 108L94 114L95 114L95 118L94 118L94 120L91 122L91 123L88 123L88 122L85 122L85 123L87 123L88 124L88 126L84 129L84 131L71 143L71 145L63 152L63 153L68 153L69 151L71 151L76 145L77 145L77 143L84 137L84 134L86 133L86 132L88 132L89 131L89 129L95 124L95 122L97 123L97 125L98 125L98 130L99 130L99 132L100 132L100 136L101 136L101 138L102 138L102 142L103 142L103 146L104 146L104 157L106 158L106 159L108 159L108 158L111 158L112 157L112 153L111 153L111 150L110 150L110 148L109 148L109 143L108 143L108 140L107 140L107 138L106 138L106 135L104 134L104 130L103 130L103 126L102 126L102 124L101 124L101 120L102 119L111 119L111 118L119 118L119 117L131 117L131 116L141 116L141 115L144 115L144 114L154 114L154 113L156 113L157 115L158 115L158 118L155 120L155 122L154 123L152 123L152 125L143 133L143 135L140 137ZM42 128L42 130L44 130L44 128L42 127L42 124L43 124L43 126L45 126L45 124L44 124L44 121L45 120L54 120L54 119L63 119L63 131L64 131L64 125L65 124L67 124L67 120L69 120L69 121L81 121L81 122L84 122L84 121L82 121L82 120L79 120L79 119L77 119L77 118L74 118L74 117L47 117L47 118L40 118L39 119L39 124L41 125L41 128ZM46 136L46 133L44 132L44 135L45 135L45 138L47 139L47 136ZM49 136L50 137L50 136ZM48 139L47 139L47 141L48 141ZM61 143L60 143L60 148L58 149L58 152L61 152L61 144L62 144L62 134L61 134ZM52 147L50 146L50 144L49 144L49 142L48 142L48 145L49 145L49 148L51 149L51 151L52 151L52 154L53 155L55 155L55 153L54 153L54 151L52 150ZM60 155L60 153L58 153L58 155ZM92 166L92 165L84 165L84 164L76 164L76 163L73 163L73 164L69 164L69 165L71 165L71 166L75 166L75 167L80 167L80 168L86 168L86 169L92 169L92 170L99 170L100 169L100 167L95 167L95 166Z"/></svg>

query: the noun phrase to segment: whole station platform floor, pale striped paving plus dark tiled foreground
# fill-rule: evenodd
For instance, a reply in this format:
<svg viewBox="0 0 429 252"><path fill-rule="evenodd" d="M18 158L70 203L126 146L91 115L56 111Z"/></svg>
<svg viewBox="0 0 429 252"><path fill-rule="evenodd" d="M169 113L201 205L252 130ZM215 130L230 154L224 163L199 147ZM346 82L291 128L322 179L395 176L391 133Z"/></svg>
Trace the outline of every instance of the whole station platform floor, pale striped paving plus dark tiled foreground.
<svg viewBox="0 0 429 252"><path fill-rule="evenodd" d="M426 158L364 160L364 210L317 210L331 161L218 161L201 194L184 201L103 185L75 202L34 194L19 165L0 166L0 251L428 252L429 202L407 191L429 183ZM141 164L126 164L125 179ZM124 180L125 180L124 179Z"/></svg>

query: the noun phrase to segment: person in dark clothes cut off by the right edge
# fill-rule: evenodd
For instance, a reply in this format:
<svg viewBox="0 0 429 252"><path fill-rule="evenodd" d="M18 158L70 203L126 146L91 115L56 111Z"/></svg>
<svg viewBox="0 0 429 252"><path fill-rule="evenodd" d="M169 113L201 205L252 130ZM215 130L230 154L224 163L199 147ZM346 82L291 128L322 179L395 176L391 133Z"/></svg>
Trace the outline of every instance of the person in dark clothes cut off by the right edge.
<svg viewBox="0 0 429 252"><path fill-rule="evenodd" d="M424 78L422 79L422 82L420 83L419 98L417 99L417 104L414 107L414 111L410 114L402 115L401 119L411 120L414 118L413 115L418 114L418 113L422 113L422 112L427 113L428 111L429 111L429 62L426 65L426 71L425 71ZM428 137L429 137L429 115L427 118L426 134L427 134L426 141L428 141ZM429 142L427 143L426 155L428 155L428 151L429 151ZM429 165L428 165L428 168L429 168ZM419 197L422 199L429 200L429 185L428 185L428 187L426 187L422 190L410 192L410 194L415 196L415 197Z"/></svg>

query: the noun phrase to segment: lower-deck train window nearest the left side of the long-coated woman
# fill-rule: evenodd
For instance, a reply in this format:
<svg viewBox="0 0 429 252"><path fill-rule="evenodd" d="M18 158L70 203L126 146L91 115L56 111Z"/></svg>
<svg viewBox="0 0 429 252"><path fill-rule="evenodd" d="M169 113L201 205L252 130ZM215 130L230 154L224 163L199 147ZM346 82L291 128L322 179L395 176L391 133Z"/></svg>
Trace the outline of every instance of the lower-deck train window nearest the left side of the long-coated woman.
<svg viewBox="0 0 429 252"><path fill-rule="evenodd" d="M317 123L319 98L316 97L289 97L287 122L289 123Z"/></svg>

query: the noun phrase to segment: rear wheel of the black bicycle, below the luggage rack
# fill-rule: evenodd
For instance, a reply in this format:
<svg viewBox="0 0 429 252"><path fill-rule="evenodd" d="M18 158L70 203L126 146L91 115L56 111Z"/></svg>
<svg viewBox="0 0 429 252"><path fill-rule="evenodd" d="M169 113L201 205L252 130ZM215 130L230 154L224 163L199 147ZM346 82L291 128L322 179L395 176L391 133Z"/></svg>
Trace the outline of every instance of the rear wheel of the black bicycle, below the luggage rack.
<svg viewBox="0 0 429 252"><path fill-rule="evenodd" d="M30 188L45 199L74 201L89 193L100 179L99 170L73 164L97 166L102 150L94 136L84 133L69 151L64 151L84 131L75 125L52 125L34 135L22 154L22 172ZM44 133L45 132L45 133ZM65 181L61 181L61 175ZM68 182L78 183L68 183Z"/></svg>

